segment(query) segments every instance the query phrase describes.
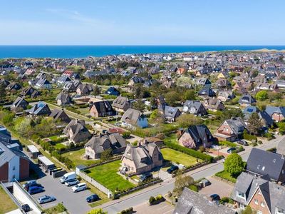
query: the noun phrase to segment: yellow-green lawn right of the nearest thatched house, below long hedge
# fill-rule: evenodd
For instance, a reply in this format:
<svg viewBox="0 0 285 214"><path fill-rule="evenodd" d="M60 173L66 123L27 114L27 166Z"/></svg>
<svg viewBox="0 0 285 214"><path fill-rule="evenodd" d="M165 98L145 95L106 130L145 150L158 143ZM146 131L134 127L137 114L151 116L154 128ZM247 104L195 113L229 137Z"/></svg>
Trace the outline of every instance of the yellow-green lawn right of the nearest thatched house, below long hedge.
<svg viewBox="0 0 285 214"><path fill-rule="evenodd" d="M165 161L180 163L185 166L191 166L197 163L197 158L181 153L180 151L175 151L171 148L162 148L161 153ZM198 161L202 162L200 159L198 159Z"/></svg>

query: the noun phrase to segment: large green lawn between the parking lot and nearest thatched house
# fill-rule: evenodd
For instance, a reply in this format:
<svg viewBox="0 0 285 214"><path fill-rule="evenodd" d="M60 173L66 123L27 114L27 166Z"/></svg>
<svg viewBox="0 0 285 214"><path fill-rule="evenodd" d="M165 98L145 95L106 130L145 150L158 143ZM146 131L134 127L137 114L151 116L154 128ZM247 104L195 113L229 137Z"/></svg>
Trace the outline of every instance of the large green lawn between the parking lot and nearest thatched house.
<svg viewBox="0 0 285 214"><path fill-rule="evenodd" d="M111 191L115 191L116 188L125 190L134 187L133 183L117 174L119 168L120 160L90 168L86 170L86 173Z"/></svg>

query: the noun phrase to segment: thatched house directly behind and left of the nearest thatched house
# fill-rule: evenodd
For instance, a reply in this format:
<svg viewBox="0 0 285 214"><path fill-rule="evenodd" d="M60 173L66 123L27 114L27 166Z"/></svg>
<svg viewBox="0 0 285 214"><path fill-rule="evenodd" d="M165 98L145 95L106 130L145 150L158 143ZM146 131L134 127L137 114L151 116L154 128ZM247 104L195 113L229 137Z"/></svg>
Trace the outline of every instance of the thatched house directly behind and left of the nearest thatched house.
<svg viewBox="0 0 285 214"><path fill-rule="evenodd" d="M90 159L100 158L101 153L110 149L113 154L125 152L127 143L120 133L106 133L93 136L84 146L85 156Z"/></svg>

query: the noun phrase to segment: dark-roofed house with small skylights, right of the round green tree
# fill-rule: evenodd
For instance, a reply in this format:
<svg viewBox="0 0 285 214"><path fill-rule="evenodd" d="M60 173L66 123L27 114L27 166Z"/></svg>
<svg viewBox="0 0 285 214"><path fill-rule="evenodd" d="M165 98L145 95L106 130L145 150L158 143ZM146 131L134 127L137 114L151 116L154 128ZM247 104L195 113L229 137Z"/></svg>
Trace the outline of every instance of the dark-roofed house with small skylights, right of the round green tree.
<svg viewBox="0 0 285 214"><path fill-rule="evenodd" d="M253 175L266 175L274 182L285 183L285 158L280 154L252 148L246 170Z"/></svg>

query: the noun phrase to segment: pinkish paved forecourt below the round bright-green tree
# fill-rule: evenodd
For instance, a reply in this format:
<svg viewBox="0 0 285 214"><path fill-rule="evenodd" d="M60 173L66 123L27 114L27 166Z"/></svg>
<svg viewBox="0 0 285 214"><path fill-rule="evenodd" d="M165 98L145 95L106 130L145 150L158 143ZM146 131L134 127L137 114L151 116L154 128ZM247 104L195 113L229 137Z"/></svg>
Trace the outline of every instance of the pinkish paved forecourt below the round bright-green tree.
<svg viewBox="0 0 285 214"><path fill-rule="evenodd" d="M210 182L211 185L208 185L205 188L202 188L199 190L199 193L209 196L212 194L218 194L219 197L229 197L232 193L232 190L234 188L233 185L226 183L222 180L218 180L216 178L209 177L207 178Z"/></svg>

